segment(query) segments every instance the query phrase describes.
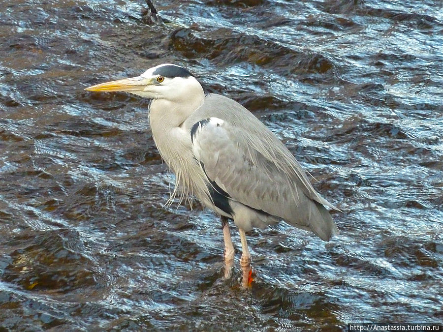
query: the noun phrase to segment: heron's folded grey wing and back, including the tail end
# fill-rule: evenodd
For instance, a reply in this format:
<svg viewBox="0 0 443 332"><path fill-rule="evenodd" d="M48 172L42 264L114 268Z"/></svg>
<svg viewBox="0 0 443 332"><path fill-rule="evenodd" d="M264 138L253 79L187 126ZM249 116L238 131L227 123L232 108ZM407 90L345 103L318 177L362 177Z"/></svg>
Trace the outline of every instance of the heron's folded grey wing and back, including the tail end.
<svg viewBox="0 0 443 332"><path fill-rule="evenodd" d="M333 206L316 193L283 143L240 104L222 96L211 99L199 116L214 117L197 122L191 138L213 187L231 205L263 211L329 240L337 230L322 204ZM221 107L225 111L214 111Z"/></svg>

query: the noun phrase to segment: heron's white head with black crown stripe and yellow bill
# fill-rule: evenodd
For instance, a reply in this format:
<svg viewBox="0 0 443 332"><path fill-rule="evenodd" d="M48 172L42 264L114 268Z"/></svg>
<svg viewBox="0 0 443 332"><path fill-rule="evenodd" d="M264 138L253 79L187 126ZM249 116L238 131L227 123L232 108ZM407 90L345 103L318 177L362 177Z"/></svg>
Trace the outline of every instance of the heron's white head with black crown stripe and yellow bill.
<svg viewBox="0 0 443 332"><path fill-rule="evenodd" d="M185 68L165 63L136 77L97 84L88 91L126 91L146 98L182 101L204 94L200 83Z"/></svg>

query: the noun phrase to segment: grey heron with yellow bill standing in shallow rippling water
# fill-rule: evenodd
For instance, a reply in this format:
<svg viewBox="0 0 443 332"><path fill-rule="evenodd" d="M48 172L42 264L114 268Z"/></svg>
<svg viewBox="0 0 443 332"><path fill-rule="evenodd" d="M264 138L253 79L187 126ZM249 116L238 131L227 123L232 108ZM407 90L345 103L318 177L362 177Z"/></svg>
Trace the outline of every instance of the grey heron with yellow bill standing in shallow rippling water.
<svg viewBox="0 0 443 332"><path fill-rule="evenodd" d="M88 91L127 91L152 99L149 121L161 157L176 175L170 200L196 196L221 215L224 276L231 276L234 246L228 219L240 232L242 286L251 281L246 232L284 220L324 241L337 234L321 197L285 145L251 112L219 94L205 94L187 69L160 64L136 77Z"/></svg>

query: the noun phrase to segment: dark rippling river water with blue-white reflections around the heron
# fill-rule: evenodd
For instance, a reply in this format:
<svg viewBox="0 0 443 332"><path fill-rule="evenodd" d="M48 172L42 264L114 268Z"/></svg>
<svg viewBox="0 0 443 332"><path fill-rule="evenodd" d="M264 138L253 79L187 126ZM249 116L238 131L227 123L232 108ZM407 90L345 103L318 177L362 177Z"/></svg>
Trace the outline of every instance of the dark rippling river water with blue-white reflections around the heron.
<svg viewBox="0 0 443 332"><path fill-rule="evenodd" d="M0 331L340 331L442 322L442 3L0 1ZM164 62L264 121L343 213L323 242L163 207L148 101L87 86ZM171 184L169 184L169 182ZM235 232L234 232L235 231Z"/></svg>

